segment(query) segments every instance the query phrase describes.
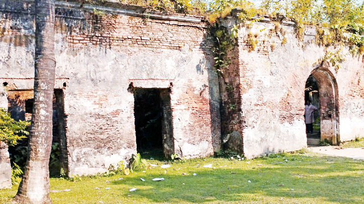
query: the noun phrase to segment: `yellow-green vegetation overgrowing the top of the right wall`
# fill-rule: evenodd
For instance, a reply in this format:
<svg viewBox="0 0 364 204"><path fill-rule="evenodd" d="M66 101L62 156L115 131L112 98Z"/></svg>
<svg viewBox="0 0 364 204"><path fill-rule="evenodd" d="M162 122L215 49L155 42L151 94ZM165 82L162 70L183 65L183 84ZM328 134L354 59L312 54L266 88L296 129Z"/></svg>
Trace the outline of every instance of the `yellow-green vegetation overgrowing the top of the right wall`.
<svg viewBox="0 0 364 204"><path fill-rule="evenodd" d="M244 25L250 29L255 21L259 21L253 20L254 16L269 17L273 21L275 28L271 29L269 36L273 33L282 36L282 45L287 43L285 31L280 27L282 20L291 18L296 23L295 32L300 40L303 40L305 25L316 26L316 44L336 48L334 51L326 50L326 55L319 63L328 63L336 70L341 68L341 63L345 60L346 54L342 52L344 46L349 46L353 56L364 55L364 3L358 4L354 0L265 0L260 8L256 8L253 3L246 1L215 0L210 4L209 22L216 27L217 18L225 17L234 8L241 9L241 12L237 15L238 25L233 25L231 29L230 39L226 39L227 35L221 35L223 29L216 32L218 43L215 49L215 67L218 71L227 68L229 61L224 58L231 50L231 45L234 45L240 27ZM258 42L257 35L249 32L249 51L254 51ZM271 45L272 51L276 46L275 43Z"/></svg>

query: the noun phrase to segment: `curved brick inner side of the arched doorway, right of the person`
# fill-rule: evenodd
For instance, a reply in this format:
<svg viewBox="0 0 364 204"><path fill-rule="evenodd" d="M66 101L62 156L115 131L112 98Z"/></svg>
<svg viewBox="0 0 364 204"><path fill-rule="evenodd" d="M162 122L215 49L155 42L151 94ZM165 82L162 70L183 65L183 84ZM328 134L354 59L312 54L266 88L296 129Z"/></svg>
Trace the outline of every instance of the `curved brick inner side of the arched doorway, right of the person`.
<svg viewBox="0 0 364 204"><path fill-rule="evenodd" d="M326 68L319 67L311 72L317 81L320 100L321 140L328 139L332 144L340 141L338 89L334 75Z"/></svg>

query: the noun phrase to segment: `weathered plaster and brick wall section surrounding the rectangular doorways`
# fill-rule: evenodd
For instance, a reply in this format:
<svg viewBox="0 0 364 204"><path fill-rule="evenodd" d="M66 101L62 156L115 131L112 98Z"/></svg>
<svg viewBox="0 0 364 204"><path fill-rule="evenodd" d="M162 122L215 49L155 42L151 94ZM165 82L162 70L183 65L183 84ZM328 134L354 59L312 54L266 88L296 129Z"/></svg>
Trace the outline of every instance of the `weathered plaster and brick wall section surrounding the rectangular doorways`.
<svg viewBox="0 0 364 204"><path fill-rule="evenodd" d="M0 78L33 88L33 5L2 1ZM56 8L56 88L64 90L69 174L104 172L136 152L134 97L171 87L174 149L186 158L220 146L218 83L204 23ZM212 119L213 118L213 119Z"/></svg>

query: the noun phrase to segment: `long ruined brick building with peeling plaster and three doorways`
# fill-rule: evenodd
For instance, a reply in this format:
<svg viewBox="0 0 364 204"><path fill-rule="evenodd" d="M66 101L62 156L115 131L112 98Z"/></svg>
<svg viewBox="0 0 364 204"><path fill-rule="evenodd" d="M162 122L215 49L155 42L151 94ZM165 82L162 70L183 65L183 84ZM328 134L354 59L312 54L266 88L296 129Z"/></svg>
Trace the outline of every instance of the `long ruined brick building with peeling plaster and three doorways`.
<svg viewBox="0 0 364 204"><path fill-rule="evenodd" d="M339 70L321 66L325 52L313 43L314 28L300 40L289 21L279 25L284 34L271 36L269 19L242 27L227 53L228 69L218 74L214 30L203 18L145 10L56 1L53 136L69 174L105 172L129 160L149 130L166 157L206 157L229 148L253 158L301 149L308 141L303 114L310 78L317 85L309 97L316 93L318 140L336 144L364 130L362 59L347 55ZM0 104L14 118L30 119L34 3L0 1L0 14ZM232 13L219 26L234 24ZM256 36L255 50L249 33ZM146 133L151 120L159 125Z"/></svg>

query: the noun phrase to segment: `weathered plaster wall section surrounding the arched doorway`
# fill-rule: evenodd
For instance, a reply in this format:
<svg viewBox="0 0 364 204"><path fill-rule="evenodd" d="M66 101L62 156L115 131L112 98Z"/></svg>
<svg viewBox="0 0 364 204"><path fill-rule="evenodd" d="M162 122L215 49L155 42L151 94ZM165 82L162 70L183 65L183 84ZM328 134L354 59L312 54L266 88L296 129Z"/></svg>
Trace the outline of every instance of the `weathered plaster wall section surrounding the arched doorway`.
<svg viewBox="0 0 364 204"><path fill-rule="evenodd" d="M230 30L236 19L227 17L220 24ZM314 28L306 27L301 41L292 25L281 22L275 28L275 24L263 20L254 23L251 29L242 27L239 31L239 78L231 77L240 84L241 124L244 124L241 134L248 158L298 150L307 145L303 118L305 83L313 70L321 66L318 61L325 55L325 48L315 44ZM252 36L257 40L255 50L248 43ZM284 38L286 44L282 44ZM348 48L343 52L347 53ZM322 69L332 73L337 82L338 103L333 107L338 113L336 131L339 141L347 141L364 128L364 91L359 80L363 75L362 57L348 54L342 67L337 71L327 66ZM323 109L326 106L320 105ZM331 123L334 125L335 121Z"/></svg>

